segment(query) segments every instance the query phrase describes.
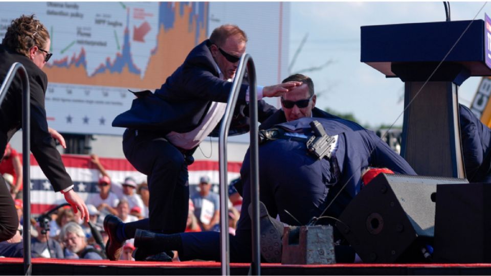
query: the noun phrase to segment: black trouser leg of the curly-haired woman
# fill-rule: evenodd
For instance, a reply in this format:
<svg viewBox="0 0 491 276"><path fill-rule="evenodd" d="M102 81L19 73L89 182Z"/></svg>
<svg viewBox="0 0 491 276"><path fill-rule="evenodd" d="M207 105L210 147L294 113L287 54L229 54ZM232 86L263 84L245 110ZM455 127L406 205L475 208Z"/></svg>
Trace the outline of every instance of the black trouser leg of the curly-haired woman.
<svg viewBox="0 0 491 276"><path fill-rule="evenodd" d="M5 180L0 176L0 242L9 240L19 227L19 219L14 200L10 195Z"/></svg>

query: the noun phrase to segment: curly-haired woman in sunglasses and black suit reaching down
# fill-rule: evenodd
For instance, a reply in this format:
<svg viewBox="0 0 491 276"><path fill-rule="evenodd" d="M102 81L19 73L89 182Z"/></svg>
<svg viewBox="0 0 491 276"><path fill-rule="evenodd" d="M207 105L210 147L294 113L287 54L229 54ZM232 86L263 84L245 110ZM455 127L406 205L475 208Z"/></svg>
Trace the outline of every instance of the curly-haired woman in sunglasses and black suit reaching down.
<svg viewBox="0 0 491 276"><path fill-rule="evenodd" d="M24 65L29 75L31 89L31 152L34 154L42 172L51 182L55 192L61 192L76 213L77 210L88 220L87 207L73 190L72 179L66 173L54 139L64 146L63 137L48 127L44 94L48 78L42 67L50 59L50 35L34 15L20 16L12 20L2 44L0 45L0 80L4 80L9 68L15 62ZM22 83L17 75L0 105L0 152L21 127ZM54 138L54 139L53 139ZM0 177L0 241L10 239L17 231L17 212L5 181Z"/></svg>

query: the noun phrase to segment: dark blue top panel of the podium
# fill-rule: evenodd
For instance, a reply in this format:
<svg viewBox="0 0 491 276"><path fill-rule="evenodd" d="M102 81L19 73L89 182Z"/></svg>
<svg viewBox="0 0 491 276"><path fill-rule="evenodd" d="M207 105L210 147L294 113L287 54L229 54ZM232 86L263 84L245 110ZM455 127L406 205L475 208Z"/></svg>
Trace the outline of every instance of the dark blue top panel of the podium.
<svg viewBox="0 0 491 276"><path fill-rule="evenodd" d="M491 76L484 61L484 34L483 20L362 26L361 61L395 77L392 65L439 63L462 35L444 63L460 64L470 76Z"/></svg>

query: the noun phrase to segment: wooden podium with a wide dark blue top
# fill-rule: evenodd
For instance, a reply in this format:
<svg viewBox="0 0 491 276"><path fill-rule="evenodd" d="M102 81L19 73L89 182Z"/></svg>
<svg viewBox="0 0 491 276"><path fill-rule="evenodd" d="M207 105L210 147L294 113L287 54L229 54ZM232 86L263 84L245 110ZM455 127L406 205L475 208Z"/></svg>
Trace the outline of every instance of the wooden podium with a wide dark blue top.
<svg viewBox="0 0 491 276"><path fill-rule="evenodd" d="M361 27L361 61L405 82L401 155L420 175L465 177L458 88L491 75L487 22Z"/></svg>

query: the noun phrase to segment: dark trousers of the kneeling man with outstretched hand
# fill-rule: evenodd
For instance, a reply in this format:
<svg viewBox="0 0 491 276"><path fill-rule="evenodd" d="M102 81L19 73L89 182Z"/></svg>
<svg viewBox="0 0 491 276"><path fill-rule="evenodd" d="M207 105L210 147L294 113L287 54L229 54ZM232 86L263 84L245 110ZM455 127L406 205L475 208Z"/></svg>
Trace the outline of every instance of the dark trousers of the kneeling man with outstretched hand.
<svg viewBox="0 0 491 276"><path fill-rule="evenodd" d="M123 152L135 169L147 175L150 192L149 218L125 227L163 234L184 232L189 208L186 156L161 136L132 129L123 134Z"/></svg>

